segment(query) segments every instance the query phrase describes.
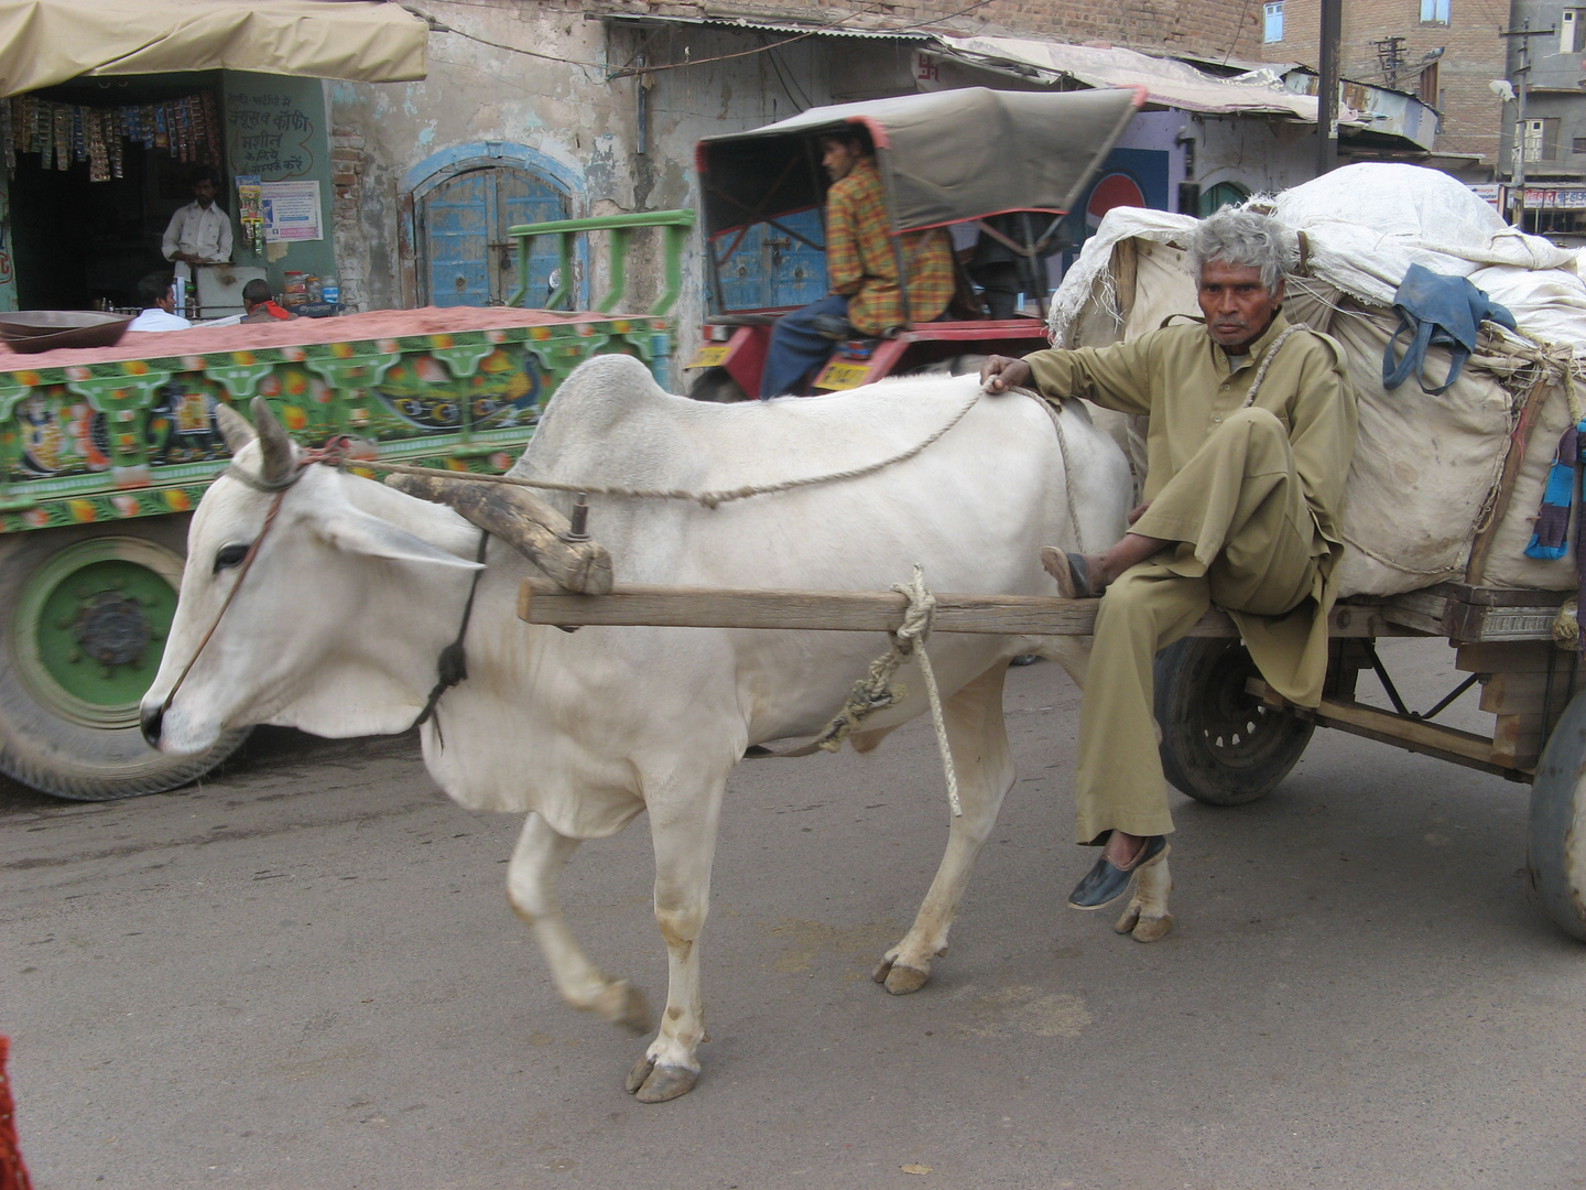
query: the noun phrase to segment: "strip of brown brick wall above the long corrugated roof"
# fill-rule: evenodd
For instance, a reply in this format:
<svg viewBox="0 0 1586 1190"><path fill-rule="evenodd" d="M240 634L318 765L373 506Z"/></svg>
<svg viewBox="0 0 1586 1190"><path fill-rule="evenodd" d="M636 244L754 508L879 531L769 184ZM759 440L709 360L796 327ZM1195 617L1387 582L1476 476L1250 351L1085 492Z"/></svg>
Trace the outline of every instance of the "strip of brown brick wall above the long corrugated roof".
<svg viewBox="0 0 1586 1190"><path fill-rule="evenodd" d="M560 3L561 0L552 0ZM950 33L1017 33L1056 41L1105 41L1131 49L1166 49L1235 59L1261 57L1261 5L1255 0L990 0L963 13L964 0L883 0L879 5L696 3L695 0L593 0L588 11L647 16L742 16L760 21L853 29L921 29ZM858 11L856 11L858 10ZM961 16L955 16L960 14Z"/></svg>

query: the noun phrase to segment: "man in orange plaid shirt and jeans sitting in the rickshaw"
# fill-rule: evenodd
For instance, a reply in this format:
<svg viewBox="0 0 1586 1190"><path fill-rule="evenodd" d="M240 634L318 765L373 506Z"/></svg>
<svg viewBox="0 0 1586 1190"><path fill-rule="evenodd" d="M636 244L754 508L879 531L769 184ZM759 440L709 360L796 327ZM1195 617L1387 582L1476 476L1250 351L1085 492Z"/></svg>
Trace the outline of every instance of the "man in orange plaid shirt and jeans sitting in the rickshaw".
<svg viewBox="0 0 1586 1190"><path fill-rule="evenodd" d="M864 133L820 138L826 190L826 282L831 294L785 314L771 333L760 398L807 392L810 373L834 340L874 338L906 322L931 322L953 297L953 252L945 232L912 232L896 243L887 227L887 195ZM909 279L907 309L898 259ZM852 332L849 330L852 327Z"/></svg>

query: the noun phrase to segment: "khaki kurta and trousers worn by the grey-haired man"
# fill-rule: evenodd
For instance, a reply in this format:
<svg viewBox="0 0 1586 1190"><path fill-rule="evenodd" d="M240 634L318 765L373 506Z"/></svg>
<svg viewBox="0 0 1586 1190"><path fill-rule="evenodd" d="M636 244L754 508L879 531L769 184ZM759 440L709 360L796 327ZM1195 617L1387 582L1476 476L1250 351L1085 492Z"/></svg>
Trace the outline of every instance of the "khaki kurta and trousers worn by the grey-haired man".
<svg viewBox="0 0 1586 1190"><path fill-rule="evenodd" d="M1302 330L1285 340L1243 409L1288 325L1278 313L1234 373L1201 322L1025 357L1044 393L1150 417L1144 500L1151 506L1132 532L1183 543L1126 571L1102 598L1080 712L1080 843L1109 830L1172 830L1153 746L1151 660L1213 598L1278 693L1302 706L1321 700L1354 390L1339 344Z"/></svg>

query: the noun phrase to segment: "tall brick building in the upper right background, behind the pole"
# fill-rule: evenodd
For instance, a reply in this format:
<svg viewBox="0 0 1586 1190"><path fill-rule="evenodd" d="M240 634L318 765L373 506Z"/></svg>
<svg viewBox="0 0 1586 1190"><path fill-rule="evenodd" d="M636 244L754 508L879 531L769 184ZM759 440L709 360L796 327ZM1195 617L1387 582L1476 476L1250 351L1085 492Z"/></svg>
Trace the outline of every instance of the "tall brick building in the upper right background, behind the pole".
<svg viewBox="0 0 1586 1190"><path fill-rule="evenodd" d="M1255 6L1255 0L1251 0ZM1421 0L1343 0L1340 60L1347 78L1383 84L1381 65L1372 44L1402 36L1399 89L1416 92L1415 65L1423 54L1443 48L1437 65L1442 113L1439 152L1480 154L1492 163L1499 152L1502 102L1488 87L1505 76L1505 48L1499 36L1507 3L1492 0L1446 0L1448 24L1421 22ZM1320 63L1320 0L1283 0L1283 40L1261 46L1267 62Z"/></svg>

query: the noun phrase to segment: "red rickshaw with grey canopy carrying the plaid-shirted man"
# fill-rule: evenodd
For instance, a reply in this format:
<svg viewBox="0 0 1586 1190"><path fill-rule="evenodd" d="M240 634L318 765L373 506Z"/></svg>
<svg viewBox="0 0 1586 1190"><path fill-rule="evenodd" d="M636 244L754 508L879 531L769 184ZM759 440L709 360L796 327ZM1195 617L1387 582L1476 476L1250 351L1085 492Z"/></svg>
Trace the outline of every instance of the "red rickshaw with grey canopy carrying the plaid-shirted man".
<svg viewBox="0 0 1586 1190"><path fill-rule="evenodd" d="M1064 216L1144 105L1144 89L1023 92L969 87L810 108L695 146L714 314L685 365L701 400L758 393L780 314L826 295L828 181L818 138L853 125L875 146L887 221L901 236L966 224L1012 249L1032 316L915 321L885 338L834 340L822 392L937 367L963 355L1023 355L1045 346L1045 257L1072 246ZM986 221L1017 214L1012 221ZM1013 235L1006 228L1012 227ZM961 268L961 265L960 265ZM972 287L960 279L960 290ZM933 311L934 314L934 311Z"/></svg>

